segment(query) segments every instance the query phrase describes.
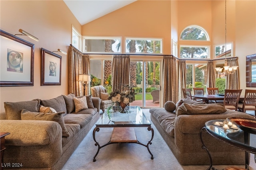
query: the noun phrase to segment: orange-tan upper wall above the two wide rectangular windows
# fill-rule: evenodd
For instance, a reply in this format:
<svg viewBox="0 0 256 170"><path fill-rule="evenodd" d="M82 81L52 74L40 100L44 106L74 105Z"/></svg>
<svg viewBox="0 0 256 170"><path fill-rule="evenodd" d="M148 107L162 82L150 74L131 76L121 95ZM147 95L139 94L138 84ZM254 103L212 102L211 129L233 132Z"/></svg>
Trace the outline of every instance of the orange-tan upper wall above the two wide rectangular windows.
<svg viewBox="0 0 256 170"><path fill-rule="evenodd" d="M164 39L163 53L171 53L171 1L136 1L82 25L82 35L156 37ZM124 49L124 46L123 46Z"/></svg>

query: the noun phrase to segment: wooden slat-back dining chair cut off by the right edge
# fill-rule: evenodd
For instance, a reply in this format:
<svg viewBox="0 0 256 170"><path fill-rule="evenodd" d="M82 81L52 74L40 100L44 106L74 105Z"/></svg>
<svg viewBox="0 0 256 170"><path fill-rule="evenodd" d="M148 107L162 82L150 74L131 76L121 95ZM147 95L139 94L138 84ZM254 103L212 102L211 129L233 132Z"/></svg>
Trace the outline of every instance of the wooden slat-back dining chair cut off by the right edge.
<svg viewBox="0 0 256 170"><path fill-rule="evenodd" d="M238 110L246 112L246 110L254 110L256 117L256 90L245 90L244 102L238 104Z"/></svg>

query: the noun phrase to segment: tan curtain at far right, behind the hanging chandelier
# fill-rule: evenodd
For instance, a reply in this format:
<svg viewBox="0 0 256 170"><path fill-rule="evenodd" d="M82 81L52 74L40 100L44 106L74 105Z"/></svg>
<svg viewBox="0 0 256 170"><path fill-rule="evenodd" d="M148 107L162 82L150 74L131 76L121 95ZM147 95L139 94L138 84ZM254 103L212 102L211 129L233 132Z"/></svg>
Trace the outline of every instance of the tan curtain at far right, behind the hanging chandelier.
<svg viewBox="0 0 256 170"><path fill-rule="evenodd" d="M227 59L228 66L238 66L237 57L233 59ZM239 89L239 67L234 74L228 74L226 77L226 89Z"/></svg>

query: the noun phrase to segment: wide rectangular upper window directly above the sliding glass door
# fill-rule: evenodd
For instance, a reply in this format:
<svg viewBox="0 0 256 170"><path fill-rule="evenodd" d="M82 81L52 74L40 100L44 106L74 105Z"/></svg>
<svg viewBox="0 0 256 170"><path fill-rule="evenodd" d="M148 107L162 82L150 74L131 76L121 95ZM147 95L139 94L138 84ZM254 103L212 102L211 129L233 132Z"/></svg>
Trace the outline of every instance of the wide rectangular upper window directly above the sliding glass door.
<svg viewBox="0 0 256 170"><path fill-rule="evenodd" d="M162 39L126 38L126 53L162 54Z"/></svg>

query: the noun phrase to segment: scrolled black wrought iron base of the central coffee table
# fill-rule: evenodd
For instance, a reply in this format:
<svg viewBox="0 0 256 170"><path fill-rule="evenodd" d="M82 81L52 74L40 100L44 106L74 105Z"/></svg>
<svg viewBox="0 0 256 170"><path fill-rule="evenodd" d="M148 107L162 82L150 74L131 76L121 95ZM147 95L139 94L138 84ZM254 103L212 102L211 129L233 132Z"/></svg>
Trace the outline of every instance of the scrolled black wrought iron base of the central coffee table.
<svg viewBox="0 0 256 170"><path fill-rule="evenodd" d="M143 143L140 143L140 142L137 140L137 142L110 142L110 141L109 141L108 143L106 143L106 144L100 146L99 143L98 143L98 142L96 141L96 139L95 139L95 133L98 132L98 131L100 131L100 128L99 128L99 127L95 127L94 130L93 130L93 134L92 134L92 135L93 135L93 140L96 142L94 145L95 145L95 146L98 146L98 150L97 150L95 156L93 157L93 162L96 161L96 156L98 155L98 153L99 153L99 151L100 151L101 148L103 148L103 147L105 147L105 146L107 146L107 145L110 145L110 144L114 144L114 143L137 143L137 144L140 144L140 145L142 145L142 146L144 146L144 147L146 147L146 148L148 149L148 152L149 152L150 155L151 155L151 159L154 159L153 154L150 152L150 149L149 149L149 147L148 147L149 145L152 144L151 141L153 140L153 137L154 137L154 129L153 129L152 127L148 127L148 131L151 131L151 132L152 132L152 137L151 137L150 141L148 141L148 144L147 144L147 145L144 145Z"/></svg>

